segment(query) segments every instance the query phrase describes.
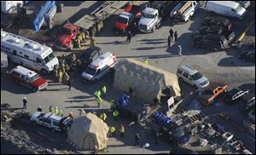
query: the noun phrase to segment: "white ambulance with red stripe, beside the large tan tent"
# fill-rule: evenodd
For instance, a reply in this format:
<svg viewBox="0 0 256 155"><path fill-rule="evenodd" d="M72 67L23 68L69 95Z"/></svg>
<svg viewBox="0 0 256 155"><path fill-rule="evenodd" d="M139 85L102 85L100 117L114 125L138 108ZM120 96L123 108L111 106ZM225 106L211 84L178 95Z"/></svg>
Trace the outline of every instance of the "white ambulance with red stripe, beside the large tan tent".
<svg viewBox="0 0 256 155"><path fill-rule="evenodd" d="M116 56L107 52L90 63L82 73L82 78L87 82L96 82L106 75L117 62Z"/></svg>

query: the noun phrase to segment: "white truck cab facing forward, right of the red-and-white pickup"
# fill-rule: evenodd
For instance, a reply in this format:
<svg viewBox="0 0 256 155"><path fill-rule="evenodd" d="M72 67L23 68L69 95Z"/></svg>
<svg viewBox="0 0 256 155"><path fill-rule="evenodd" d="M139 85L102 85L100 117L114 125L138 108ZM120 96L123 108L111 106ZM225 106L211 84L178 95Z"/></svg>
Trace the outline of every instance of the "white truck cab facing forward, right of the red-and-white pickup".
<svg viewBox="0 0 256 155"><path fill-rule="evenodd" d="M160 25L160 15L158 9L143 9L143 15L138 22L138 29L141 32L154 32Z"/></svg>

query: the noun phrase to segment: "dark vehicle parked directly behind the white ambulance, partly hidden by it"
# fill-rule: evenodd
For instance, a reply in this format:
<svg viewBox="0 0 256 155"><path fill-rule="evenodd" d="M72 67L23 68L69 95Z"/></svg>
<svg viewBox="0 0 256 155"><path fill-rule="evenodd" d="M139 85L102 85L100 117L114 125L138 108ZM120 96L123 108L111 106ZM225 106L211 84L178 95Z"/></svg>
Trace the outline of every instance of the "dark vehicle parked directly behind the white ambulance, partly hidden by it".
<svg viewBox="0 0 256 155"><path fill-rule="evenodd" d="M89 66L93 60L96 60L99 55L101 55L101 48L99 47L90 47L85 49L84 52L79 55L79 60L81 61L79 68L81 71Z"/></svg>

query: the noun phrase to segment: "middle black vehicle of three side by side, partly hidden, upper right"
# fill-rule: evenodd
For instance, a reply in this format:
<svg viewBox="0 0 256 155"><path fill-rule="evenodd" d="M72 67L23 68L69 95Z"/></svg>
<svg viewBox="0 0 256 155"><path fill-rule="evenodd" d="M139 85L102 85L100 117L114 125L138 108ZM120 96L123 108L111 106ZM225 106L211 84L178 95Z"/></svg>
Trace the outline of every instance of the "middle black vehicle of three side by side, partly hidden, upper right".
<svg viewBox="0 0 256 155"><path fill-rule="evenodd" d="M227 40L232 41L235 37L234 31L225 30L223 26L202 26L199 30L199 34L206 35L207 33L222 34Z"/></svg>

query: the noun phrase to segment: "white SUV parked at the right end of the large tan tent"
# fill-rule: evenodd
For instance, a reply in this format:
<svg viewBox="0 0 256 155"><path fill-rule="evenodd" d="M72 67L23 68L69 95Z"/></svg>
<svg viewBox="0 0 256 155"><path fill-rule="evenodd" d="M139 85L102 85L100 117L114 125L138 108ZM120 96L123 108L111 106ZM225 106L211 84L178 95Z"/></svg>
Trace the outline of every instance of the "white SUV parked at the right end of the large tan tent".
<svg viewBox="0 0 256 155"><path fill-rule="evenodd" d="M204 89L209 85L208 79L189 65L177 69L177 78L180 82L189 83L195 89Z"/></svg>

